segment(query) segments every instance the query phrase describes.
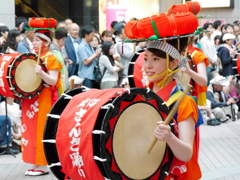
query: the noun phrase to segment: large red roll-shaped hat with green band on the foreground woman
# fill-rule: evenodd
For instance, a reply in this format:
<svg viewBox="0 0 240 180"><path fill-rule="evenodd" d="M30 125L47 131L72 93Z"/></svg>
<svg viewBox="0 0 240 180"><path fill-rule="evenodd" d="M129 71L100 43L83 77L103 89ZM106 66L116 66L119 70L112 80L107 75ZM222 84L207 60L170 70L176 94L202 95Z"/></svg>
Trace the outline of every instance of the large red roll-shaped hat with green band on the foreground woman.
<svg viewBox="0 0 240 180"><path fill-rule="evenodd" d="M168 14L161 13L140 20L130 20L124 32L129 39L148 39L153 35L160 38L190 34L198 27L196 14L200 9L198 2L173 5Z"/></svg>

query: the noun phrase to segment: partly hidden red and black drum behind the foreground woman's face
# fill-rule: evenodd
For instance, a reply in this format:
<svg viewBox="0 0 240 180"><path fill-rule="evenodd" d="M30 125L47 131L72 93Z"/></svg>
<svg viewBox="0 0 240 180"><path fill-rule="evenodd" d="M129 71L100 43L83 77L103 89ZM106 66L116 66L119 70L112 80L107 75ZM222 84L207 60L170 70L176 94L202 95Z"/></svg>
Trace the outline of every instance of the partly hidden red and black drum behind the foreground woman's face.
<svg viewBox="0 0 240 180"><path fill-rule="evenodd" d="M129 67L128 67L128 81L130 87L147 87L148 80L147 76L143 70L143 64L144 64L144 54L145 51L139 51L135 53L135 55L132 57ZM187 66L189 66L189 63L187 63ZM187 87L187 85L190 83L190 76L186 73L182 73L178 71L176 73L176 80L179 84L181 84L183 87Z"/></svg>

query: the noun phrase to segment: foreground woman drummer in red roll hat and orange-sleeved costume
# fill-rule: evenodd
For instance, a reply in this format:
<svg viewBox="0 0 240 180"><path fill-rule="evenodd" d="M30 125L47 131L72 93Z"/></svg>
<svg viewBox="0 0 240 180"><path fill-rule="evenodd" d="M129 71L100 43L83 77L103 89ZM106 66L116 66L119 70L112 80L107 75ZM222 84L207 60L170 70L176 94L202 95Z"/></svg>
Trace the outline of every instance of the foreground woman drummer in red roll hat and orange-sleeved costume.
<svg viewBox="0 0 240 180"><path fill-rule="evenodd" d="M181 23L184 22L188 28L180 30L181 23L176 21L180 18L177 15L180 11L175 10L174 7L177 6L172 6L172 13L168 15L162 13L158 16L151 16L149 17L151 22L148 22L147 18L131 21L125 28L129 39L147 38L150 41L144 55L143 70L149 81L148 87L167 104L176 96L176 92L181 90L181 85L177 84L174 78L175 73L179 71L179 63L182 62L180 53L185 52L188 45L188 37L178 38L178 36L191 34L198 27L196 16L193 13L185 13L188 11L186 8L181 11L184 14L183 17L190 16L191 20L182 19ZM166 18L166 21L157 21L159 17ZM169 18L175 23L174 26L169 22ZM135 26L137 28L132 28ZM148 28L149 26L152 29ZM177 38L171 36L177 36ZM172 109L171 105L168 107ZM172 162L165 172L166 175L161 175L161 179L197 180L201 178L198 164L199 128L197 127L202 122L199 114L195 100L191 96L185 96L174 115L175 130L171 131L170 125L165 125L164 122L159 122L155 128L154 136L159 141L165 141L172 152L164 156L163 162L169 162L171 159ZM162 163L160 168L165 168L164 165Z"/></svg>

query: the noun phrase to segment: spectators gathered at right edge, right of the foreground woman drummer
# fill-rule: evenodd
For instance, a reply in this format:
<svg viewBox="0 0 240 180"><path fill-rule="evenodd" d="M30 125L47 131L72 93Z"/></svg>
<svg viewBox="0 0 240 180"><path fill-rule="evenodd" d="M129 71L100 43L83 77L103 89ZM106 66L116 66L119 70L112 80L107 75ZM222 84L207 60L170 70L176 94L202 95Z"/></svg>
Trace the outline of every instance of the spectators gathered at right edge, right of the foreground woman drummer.
<svg viewBox="0 0 240 180"><path fill-rule="evenodd" d="M200 107L208 125L239 119L239 21L223 24L216 20L203 25L206 32L196 45L208 57L207 105Z"/></svg>

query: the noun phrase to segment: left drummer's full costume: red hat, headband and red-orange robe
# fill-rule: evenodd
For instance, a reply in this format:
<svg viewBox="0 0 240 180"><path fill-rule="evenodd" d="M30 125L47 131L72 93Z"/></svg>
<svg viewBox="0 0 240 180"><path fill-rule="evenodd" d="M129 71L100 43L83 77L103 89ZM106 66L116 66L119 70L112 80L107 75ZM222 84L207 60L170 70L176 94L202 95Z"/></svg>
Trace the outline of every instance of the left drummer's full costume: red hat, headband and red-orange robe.
<svg viewBox="0 0 240 180"><path fill-rule="evenodd" d="M35 20L37 23L40 22L43 24L36 25ZM53 26L52 21L51 18L32 18L29 22L29 26L31 28L37 28L35 35L47 39L48 37L43 37L45 35L42 34L39 29L45 29L44 27L53 28L55 25ZM34 26L31 26L31 24ZM51 40L49 39L48 41ZM57 83L54 86L45 84L39 96L22 100L22 158L24 162L34 165L47 165L42 143L47 119L46 115L56 102L58 98L58 88L61 86L60 70L62 64L58 62L53 54L49 54L49 52L49 50L42 52L40 57L44 61L47 71L56 70L59 72ZM38 74L36 74L36 76L38 76Z"/></svg>

